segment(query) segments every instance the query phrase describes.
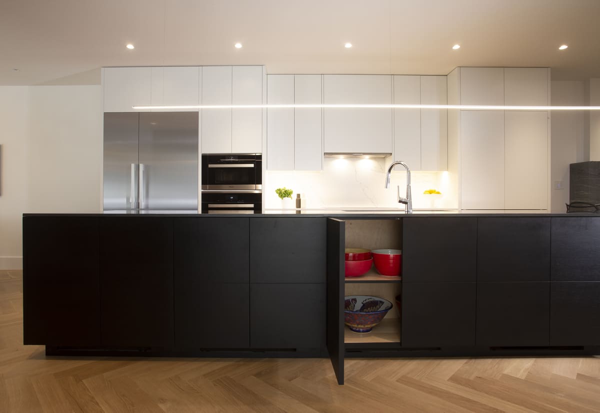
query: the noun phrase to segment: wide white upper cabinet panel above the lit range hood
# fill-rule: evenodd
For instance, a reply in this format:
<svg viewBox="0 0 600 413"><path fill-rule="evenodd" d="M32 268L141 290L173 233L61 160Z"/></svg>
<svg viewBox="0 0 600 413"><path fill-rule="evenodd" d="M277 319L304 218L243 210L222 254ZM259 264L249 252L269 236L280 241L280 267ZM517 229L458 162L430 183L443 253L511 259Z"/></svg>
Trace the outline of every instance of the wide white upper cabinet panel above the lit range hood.
<svg viewBox="0 0 600 413"><path fill-rule="evenodd" d="M325 75L323 103L391 104L392 77ZM392 152L392 109L326 108L323 120L325 152Z"/></svg>

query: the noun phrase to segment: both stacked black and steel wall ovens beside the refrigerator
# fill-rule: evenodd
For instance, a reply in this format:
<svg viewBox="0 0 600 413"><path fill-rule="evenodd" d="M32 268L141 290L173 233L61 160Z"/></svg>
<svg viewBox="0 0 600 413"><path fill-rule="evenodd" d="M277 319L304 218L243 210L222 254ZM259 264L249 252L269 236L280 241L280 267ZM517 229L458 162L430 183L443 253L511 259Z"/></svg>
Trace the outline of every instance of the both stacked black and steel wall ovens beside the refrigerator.
<svg viewBox="0 0 600 413"><path fill-rule="evenodd" d="M261 213L262 154L202 155L202 213Z"/></svg>

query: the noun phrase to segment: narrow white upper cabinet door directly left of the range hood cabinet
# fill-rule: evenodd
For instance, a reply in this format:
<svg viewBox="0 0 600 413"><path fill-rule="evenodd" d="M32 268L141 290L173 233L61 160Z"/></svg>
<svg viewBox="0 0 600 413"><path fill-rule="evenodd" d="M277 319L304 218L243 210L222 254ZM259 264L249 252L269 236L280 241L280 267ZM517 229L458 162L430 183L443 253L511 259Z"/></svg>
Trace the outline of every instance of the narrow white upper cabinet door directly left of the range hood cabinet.
<svg viewBox="0 0 600 413"><path fill-rule="evenodd" d="M322 76L296 74L294 76L294 102L320 104L322 101ZM320 171L323 169L323 129L321 108L294 109L294 169Z"/></svg>

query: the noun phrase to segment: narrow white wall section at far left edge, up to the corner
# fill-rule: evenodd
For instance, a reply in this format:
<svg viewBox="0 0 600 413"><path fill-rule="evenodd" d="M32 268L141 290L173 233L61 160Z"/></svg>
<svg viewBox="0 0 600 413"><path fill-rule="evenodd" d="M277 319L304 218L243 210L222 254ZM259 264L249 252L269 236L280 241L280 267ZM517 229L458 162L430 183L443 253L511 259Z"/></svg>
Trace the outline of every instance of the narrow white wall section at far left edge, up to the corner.
<svg viewBox="0 0 600 413"><path fill-rule="evenodd" d="M0 87L0 269L21 268L27 205L29 88Z"/></svg>

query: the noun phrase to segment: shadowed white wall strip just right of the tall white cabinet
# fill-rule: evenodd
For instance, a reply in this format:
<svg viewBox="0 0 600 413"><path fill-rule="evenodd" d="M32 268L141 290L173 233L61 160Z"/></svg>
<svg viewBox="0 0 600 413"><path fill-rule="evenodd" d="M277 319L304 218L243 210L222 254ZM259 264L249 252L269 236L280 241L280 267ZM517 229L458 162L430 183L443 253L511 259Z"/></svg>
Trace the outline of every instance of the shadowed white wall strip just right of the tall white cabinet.
<svg viewBox="0 0 600 413"><path fill-rule="evenodd" d="M583 105L584 99L584 82L551 82L552 105ZM569 164L583 162L586 153L584 112L553 111L551 116L551 212L565 212L565 203L569 202ZM557 181L562 182L562 189L556 188Z"/></svg>

